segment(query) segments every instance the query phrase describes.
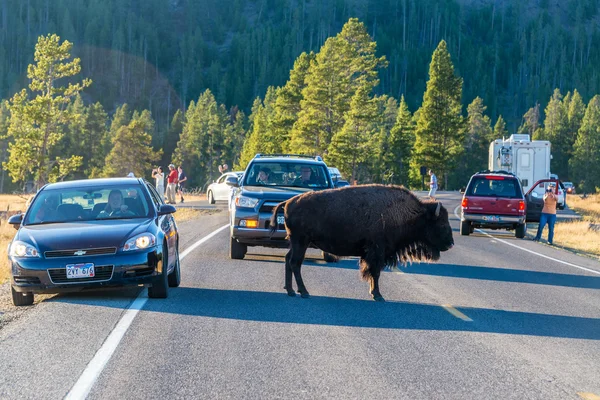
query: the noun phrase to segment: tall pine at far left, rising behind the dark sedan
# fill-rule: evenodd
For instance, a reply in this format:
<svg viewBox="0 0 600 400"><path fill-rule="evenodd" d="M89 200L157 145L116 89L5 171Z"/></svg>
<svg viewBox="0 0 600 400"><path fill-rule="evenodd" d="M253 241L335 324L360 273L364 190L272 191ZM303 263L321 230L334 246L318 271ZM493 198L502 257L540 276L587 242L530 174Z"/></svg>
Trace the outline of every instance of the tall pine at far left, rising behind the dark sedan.
<svg viewBox="0 0 600 400"><path fill-rule="evenodd" d="M3 164L13 181L34 177L36 186L54 182L75 171L82 157L62 157L54 152L64 136L64 126L71 118L69 104L86 87L89 79L80 83L56 86L63 78L74 77L81 71L78 58L71 58L72 44L60 43L57 35L40 36L35 46L34 64L27 68L29 89L34 97L23 89L10 103L10 126L8 134L9 159Z"/></svg>

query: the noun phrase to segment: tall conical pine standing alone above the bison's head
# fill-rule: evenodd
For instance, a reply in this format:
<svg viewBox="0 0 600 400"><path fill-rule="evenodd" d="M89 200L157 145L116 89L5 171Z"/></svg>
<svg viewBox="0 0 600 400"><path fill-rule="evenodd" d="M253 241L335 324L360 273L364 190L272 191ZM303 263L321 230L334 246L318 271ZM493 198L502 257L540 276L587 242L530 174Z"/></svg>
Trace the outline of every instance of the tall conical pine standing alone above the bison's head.
<svg viewBox="0 0 600 400"><path fill-rule="evenodd" d="M447 180L455 169L464 138L461 96L462 78L455 76L450 53L442 40L433 52L427 89L419 109L411 161L414 175L425 166L433 169L438 178Z"/></svg>

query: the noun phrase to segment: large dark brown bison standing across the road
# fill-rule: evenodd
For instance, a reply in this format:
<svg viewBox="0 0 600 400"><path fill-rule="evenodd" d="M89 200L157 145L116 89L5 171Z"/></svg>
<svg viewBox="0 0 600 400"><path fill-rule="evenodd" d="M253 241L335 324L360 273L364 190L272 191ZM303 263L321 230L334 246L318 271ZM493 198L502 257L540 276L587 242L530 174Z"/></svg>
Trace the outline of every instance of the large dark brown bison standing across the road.
<svg viewBox="0 0 600 400"><path fill-rule="evenodd" d="M364 185L307 192L279 203L273 210L271 232L284 208L290 250L285 256L285 286L295 296L309 297L300 269L312 243L339 257L360 257L360 274L370 294L384 301L379 275L386 267L411 261L439 260L454 245L448 212L439 202L422 202L401 186Z"/></svg>

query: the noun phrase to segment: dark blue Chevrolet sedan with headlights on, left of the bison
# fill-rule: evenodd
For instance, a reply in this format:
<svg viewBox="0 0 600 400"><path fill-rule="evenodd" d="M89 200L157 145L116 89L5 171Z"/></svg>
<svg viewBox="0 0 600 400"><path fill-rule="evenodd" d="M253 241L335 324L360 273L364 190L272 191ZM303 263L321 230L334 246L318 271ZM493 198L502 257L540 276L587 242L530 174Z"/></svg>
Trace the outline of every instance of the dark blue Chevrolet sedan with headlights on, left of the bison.
<svg viewBox="0 0 600 400"><path fill-rule="evenodd" d="M166 298L181 281L175 211L138 178L44 186L9 219L18 229L9 246L14 305L32 304L34 293L123 285Z"/></svg>

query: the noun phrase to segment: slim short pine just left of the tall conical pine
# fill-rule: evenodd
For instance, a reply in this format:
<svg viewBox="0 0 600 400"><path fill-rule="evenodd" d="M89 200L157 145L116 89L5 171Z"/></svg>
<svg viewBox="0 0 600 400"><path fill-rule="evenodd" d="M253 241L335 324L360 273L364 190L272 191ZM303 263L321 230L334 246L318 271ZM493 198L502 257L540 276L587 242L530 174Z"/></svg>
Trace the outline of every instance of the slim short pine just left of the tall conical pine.
<svg viewBox="0 0 600 400"><path fill-rule="evenodd" d="M385 164L393 173L394 183L408 186L410 159L415 143L415 121L411 115L404 96L400 98L400 106L396 123L390 131L390 151L386 154Z"/></svg>

